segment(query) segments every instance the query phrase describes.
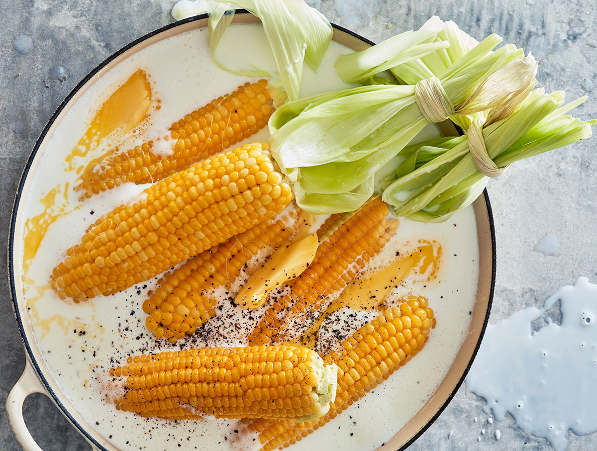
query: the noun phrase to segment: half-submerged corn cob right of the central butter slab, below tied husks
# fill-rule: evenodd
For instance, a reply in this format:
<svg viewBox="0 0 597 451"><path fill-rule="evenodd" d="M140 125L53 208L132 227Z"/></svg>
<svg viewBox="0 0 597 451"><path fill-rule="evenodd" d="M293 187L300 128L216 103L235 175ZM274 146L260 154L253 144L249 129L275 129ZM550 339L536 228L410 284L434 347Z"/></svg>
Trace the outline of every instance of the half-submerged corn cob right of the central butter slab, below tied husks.
<svg viewBox="0 0 597 451"><path fill-rule="evenodd" d="M291 293L279 298L267 310L251 332L249 342L276 341L276 333L281 332L284 322L278 317L279 313L284 312L288 317L307 308L315 312L331 294L344 289L355 277L355 271L377 254L393 234L396 222L387 220L388 213L387 205L376 197L340 225L319 245L309 267L290 283ZM328 219L318 233L324 233L334 220L335 217Z"/></svg>

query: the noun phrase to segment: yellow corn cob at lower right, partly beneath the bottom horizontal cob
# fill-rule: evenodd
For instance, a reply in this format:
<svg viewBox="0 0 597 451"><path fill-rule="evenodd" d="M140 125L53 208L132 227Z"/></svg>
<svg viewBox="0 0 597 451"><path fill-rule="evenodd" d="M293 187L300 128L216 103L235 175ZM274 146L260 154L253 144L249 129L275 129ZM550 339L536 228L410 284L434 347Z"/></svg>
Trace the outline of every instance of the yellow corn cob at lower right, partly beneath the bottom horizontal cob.
<svg viewBox="0 0 597 451"><path fill-rule="evenodd" d="M330 412L316 421L297 424L289 421L257 419L248 424L259 433L263 451L296 443L322 427L354 401L392 374L421 350L435 327L433 310L427 299L411 298L391 307L341 343L340 351L324 357L338 365L336 400Z"/></svg>

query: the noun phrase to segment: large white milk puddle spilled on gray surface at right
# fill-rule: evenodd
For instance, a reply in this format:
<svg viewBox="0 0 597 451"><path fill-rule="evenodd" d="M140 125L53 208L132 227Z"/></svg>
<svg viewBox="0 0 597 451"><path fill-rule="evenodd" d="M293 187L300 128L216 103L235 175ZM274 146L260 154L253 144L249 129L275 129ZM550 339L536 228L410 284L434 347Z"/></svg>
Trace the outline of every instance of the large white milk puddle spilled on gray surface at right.
<svg viewBox="0 0 597 451"><path fill-rule="evenodd" d="M547 322L531 332L531 322L557 301L561 325ZM487 326L467 389L485 399L485 412L498 421L510 413L526 434L547 438L556 451L568 446L568 430L597 431L596 312L597 285L580 277L543 308L528 307Z"/></svg>

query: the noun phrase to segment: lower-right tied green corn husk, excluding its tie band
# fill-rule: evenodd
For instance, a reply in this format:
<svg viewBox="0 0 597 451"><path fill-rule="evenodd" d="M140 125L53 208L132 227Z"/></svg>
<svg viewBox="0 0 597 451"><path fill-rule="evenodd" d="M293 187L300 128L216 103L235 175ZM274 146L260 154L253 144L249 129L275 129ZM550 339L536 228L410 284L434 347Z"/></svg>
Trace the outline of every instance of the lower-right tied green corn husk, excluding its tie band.
<svg viewBox="0 0 597 451"><path fill-rule="evenodd" d="M488 156L503 167L589 138L595 121L565 116L585 98L559 107L563 100L561 91L531 92L512 115L482 130ZM489 178L473 161L468 140L463 135L405 147L395 180L384 180L384 202L399 216L427 223L445 221L472 203Z"/></svg>

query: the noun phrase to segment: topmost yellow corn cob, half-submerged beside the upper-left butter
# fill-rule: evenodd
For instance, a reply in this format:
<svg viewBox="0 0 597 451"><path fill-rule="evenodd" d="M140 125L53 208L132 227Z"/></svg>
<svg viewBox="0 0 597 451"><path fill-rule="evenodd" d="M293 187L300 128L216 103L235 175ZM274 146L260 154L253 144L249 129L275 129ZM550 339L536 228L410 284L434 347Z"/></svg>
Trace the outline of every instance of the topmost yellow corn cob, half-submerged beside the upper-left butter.
<svg viewBox="0 0 597 451"><path fill-rule="evenodd" d="M86 170L78 189L91 197L122 183L155 183L256 134L272 113L267 81L245 83L174 122L171 155L152 152L154 143L149 141Z"/></svg>

